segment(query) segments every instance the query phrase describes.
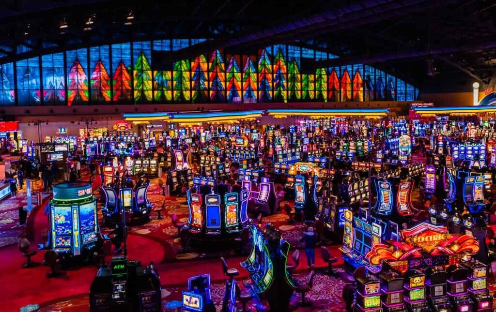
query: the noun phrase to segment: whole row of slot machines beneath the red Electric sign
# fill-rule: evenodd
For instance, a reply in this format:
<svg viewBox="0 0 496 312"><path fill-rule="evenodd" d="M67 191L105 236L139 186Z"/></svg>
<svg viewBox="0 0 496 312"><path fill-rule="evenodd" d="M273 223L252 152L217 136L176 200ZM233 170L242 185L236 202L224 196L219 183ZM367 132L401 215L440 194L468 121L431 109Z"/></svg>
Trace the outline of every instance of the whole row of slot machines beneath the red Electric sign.
<svg viewBox="0 0 496 312"><path fill-rule="evenodd" d="M458 263L445 269L447 261ZM400 262L403 274L388 270L356 279L359 311L492 311L487 265L447 256Z"/></svg>

